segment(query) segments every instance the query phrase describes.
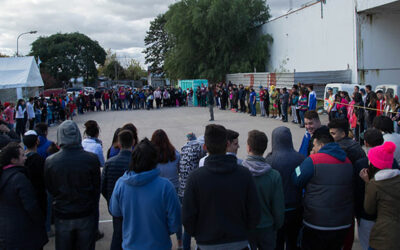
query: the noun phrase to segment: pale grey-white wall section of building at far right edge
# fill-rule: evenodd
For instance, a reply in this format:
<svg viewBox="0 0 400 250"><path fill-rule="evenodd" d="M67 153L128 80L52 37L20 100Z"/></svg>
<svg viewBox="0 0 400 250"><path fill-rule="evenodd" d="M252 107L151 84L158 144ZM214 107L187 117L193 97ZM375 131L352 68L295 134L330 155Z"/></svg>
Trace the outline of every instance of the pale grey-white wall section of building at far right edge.
<svg viewBox="0 0 400 250"><path fill-rule="evenodd" d="M358 14L359 81L400 84L400 1Z"/></svg>

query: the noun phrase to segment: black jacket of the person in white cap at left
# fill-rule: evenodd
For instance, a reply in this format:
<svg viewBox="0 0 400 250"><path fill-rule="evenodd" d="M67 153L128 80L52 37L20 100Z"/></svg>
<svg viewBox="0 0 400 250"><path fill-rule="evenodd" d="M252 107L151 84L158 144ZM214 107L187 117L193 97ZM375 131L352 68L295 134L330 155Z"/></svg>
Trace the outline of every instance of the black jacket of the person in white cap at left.
<svg viewBox="0 0 400 250"><path fill-rule="evenodd" d="M34 152L30 152L26 155L25 167L28 174L28 178L35 189L36 198L39 203L39 207L46 216L47 212L47 193L46 185L44 183L44 159Z"/></svg>

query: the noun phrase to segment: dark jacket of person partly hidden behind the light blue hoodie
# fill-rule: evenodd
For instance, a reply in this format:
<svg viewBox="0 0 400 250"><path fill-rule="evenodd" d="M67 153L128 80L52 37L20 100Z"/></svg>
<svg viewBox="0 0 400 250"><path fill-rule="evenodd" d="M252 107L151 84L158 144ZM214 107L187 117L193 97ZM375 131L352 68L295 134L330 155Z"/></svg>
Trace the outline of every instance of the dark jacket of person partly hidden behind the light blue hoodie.
<svg viewBox="0 0 400 250"><path fill-rule="evenodd" d="M122 150L118 155L108 159L101 175L101 193L108 202L110 201L115 183L129 168L132 152Z"/></svg>

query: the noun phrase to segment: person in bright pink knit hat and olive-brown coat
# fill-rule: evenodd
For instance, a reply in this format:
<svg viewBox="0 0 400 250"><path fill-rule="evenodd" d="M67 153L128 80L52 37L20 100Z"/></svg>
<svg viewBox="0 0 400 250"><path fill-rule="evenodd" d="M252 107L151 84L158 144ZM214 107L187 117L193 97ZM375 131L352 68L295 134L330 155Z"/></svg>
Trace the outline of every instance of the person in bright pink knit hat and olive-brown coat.
<svg viewBox="0 0 400 250"><path fill-rule="evenodd" d="M360 172L365 181L364 209L377 214L369 249L400 249L400 170L393 169L396 145L385 142L369 150L369 167Z"/></svg>

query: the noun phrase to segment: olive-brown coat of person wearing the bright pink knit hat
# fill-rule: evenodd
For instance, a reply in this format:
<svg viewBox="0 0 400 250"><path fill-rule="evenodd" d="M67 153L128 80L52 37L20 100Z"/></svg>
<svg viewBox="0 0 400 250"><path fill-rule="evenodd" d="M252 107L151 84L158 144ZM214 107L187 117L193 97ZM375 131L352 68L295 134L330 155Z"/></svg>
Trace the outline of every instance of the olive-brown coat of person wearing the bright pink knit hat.
<svg viewBox="0 0 400 250"><path fill-rule="evenodd" d="M379 250L400 249L400 170L380 170L366 183L364 208L378 215L369 245Z"/></svg>

